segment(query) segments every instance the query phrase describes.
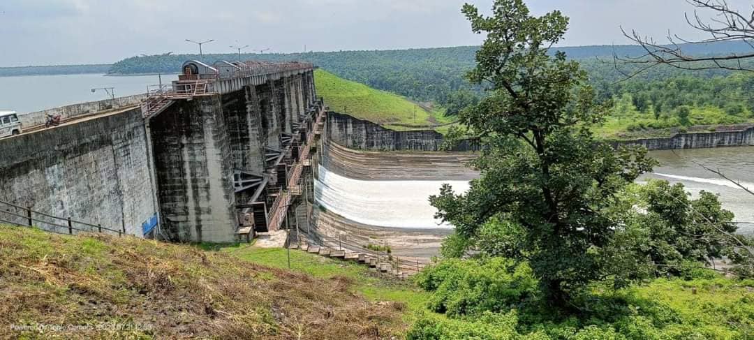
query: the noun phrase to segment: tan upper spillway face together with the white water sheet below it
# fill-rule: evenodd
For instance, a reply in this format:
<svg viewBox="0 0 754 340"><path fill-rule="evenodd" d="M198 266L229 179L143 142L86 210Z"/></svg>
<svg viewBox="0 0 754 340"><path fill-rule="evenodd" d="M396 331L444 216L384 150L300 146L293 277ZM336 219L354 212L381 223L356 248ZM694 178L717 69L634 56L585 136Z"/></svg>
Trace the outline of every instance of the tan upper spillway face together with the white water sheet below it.
<svg viewBox="0 0 754 340"><path fill-rule="evenodd" d="M317 204L340 216L386 228L452 228L434 218L431 195L457 192L477 173L465 152L366 152L326 143L314 182Z"/></svg>

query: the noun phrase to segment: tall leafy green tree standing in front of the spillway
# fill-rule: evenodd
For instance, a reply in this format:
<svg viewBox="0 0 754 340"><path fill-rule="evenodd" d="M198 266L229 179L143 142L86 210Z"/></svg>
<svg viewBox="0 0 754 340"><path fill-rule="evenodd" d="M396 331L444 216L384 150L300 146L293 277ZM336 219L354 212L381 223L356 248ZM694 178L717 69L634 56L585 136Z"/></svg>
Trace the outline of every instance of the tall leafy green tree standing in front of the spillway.
<svg viewBox="0 0 754 340"><path fill-rule="evenodd" d="M615 152L590 133L605 106L578 63L547 54L567 17L532 16L522 0L496 0L492 17L468 4L462 12L486 34L468 78L488 96L459 116L464 133L483 143L474 162L481 177L462 195L443 186L431 203L455 225L455 255L485 234L483 225L503 224L504 255L528 261L547 301L568 308L576 289L611 274L602 248L619 227L615 196L653 163L645 151Z"/></svg>

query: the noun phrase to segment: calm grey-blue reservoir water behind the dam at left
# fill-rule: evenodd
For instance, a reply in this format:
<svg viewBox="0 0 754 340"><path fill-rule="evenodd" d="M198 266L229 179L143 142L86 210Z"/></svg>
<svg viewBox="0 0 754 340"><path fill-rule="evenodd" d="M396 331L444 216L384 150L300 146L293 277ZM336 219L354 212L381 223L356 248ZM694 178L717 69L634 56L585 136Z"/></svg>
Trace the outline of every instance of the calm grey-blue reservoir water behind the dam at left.
<svg viewBox="0 0 754 340"><path fill-rule="evenodd" d="M164 82L175 75L162 75ZM106 100L97 87L115 87L115 96L146 93L147 85L158 84L157 75L108 77L105 75L30 75L0 77L0 110L28 113L75 103Z"/></svg>

